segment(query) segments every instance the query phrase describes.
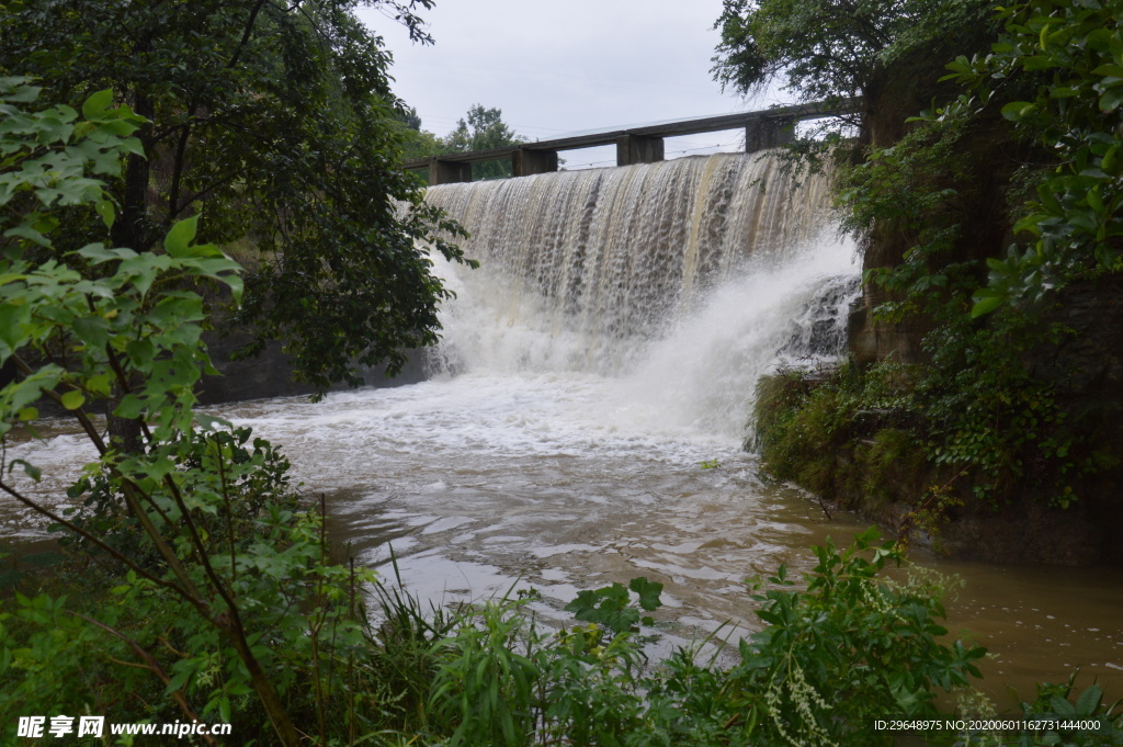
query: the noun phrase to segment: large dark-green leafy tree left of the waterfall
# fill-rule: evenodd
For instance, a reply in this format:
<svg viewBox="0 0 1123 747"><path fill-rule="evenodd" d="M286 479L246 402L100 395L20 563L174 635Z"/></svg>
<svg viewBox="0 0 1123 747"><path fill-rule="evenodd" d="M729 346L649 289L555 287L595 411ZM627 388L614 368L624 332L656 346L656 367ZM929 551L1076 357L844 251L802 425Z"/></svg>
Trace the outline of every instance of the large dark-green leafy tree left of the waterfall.
<svg viewBox="0 0 1123 747"><path fill-rule="evenodd" d="M377 4L427 39L413 11L431 0ZM148 122L147 157L112 185L113 244L150 250L197 216L202 240L248 245L258 261L232 317L254 331L246 352L284 340L295 376L321 389L436 341L448 293L418 245L463 259L444 238L457 228L399 166L390 56L355 6L27 0L0 16L0 72L74 106L112 86ZM69 248L103 237L91 215Z"/></svg>

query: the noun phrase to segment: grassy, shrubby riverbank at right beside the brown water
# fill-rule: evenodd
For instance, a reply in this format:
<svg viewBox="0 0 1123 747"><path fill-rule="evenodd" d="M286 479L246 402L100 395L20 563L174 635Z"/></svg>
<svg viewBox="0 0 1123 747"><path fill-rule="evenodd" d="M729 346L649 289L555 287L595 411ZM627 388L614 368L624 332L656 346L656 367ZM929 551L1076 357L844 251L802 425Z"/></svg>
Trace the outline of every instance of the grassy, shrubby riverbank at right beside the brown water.
<svg viewBox="0 0 1123 747"><path fill-rule="evenodd" d="M1111 441L1075 441L1062 419L1047 420L1050 403L1034 394L1040 403L1017 407L1040 410L1039 435L1003 432L1020 425L998 421L986 440L964 445L932 413L934 395L917 384L923 375L920 366L844 364L763 377L755 447L764 468L957 558L1119 566L1119 470L1092 448L1111 449ZM1044 459L1023 462L1049 441L1054 454L1056 444L1069 452L1059 473Z"/></svg>

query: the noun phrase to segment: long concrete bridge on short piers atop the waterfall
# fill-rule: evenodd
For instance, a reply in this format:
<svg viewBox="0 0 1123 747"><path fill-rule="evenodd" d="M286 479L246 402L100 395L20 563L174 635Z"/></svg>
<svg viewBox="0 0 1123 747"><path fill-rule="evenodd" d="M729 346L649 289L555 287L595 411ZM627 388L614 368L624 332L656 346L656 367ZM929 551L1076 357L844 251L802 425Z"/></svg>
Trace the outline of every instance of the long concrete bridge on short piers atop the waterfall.
<svg viewBox="0 0 1123 747"><path fill-rule="evenodd" d="M481 161L510 158L514 176L545 174L558 170L558 152L591 148L597 145L617 146L617 165L655 163L663 161L663 138L676 135L697 135L724 129L745 128L745 152L754 153L774 148L792 140L795 122L821 119L853 111L853 102L843 104L825 102L777 107L763 111L745 111L720 117L697 117L627 129L581 133L569 137L537 143L520 143L489 151L445 153L429 158L407 161L409 170L429 170L429 184L450 184L472 181L472 164Z"/></svg>

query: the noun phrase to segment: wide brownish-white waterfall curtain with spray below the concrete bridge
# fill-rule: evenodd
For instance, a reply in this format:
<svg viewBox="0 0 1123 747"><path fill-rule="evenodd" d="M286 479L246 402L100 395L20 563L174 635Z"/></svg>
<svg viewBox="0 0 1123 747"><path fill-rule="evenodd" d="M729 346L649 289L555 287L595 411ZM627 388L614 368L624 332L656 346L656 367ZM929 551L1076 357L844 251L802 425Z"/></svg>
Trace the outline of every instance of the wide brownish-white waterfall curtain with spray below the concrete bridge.
<svg viewBox="0 0 1123 747"><path fill-rule="evenodd" d="M587 373L652 421L741 432L777 361L844 346L857 291L828 180L772 154L430 188L478 271L442 266L433 373Z"/></svg>

